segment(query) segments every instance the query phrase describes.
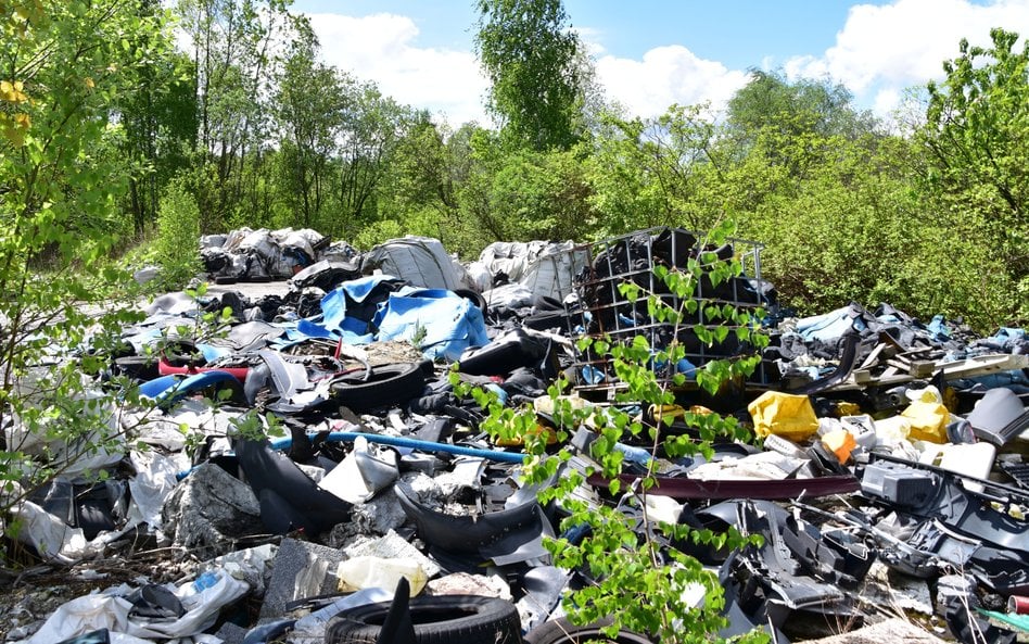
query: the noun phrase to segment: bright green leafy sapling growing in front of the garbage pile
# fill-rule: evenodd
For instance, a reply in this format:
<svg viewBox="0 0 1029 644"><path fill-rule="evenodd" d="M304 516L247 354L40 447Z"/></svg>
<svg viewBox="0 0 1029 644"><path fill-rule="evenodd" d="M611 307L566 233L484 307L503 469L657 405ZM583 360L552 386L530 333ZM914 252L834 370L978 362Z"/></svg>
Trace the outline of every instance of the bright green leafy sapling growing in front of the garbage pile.
<svg viewBox="0 0 1029 644"><path fill-rule="evenodd" d="M722 243L731 230L731 225L723 224L703 243ZM566 610L577 623L612 618L612 626L606 629L609 636L627 629L649 633L660 642L707 641L725 623L720 616L724 606L721 582L717 574L668 544L693 541L740 547L760 542L760 536L742 535L735 530L716 534L658 521L650 516L647 505L659 458L701 453L710 456L711 442L716 437L749 438L749 432L734 418L713 413L686 412L683 418L688 429L673 431L672 417L662 412L675 403L675 389L686 383L686 376L675 368L685 357L678 341L683 333L693 333L709 346L731 332L753 348L766 344L767 339L754 329L752 313L731 305L704 305L691 296L701 277L720 283L739 273L738 261L719 261L713 253L701 253L684 267L658 267L655 276L679 298L677 307L669 304L666 295L646 292L632 282L622 285L622 295L630 301L645 300L656 320L672 326L671 337L676 340L666 346L651 346L643 336L624 343L607 338L581 341L580 349L592 346L613 361L624 389L618 392L614 405L576 408L568 397L562 397L567 383L554 384L548 393L555 401L555 433L561 445L556 454L547 453L547 435L539 430L532 408L504 407L494 396L473 391L479 404L488 411L483 427L506 441L524 443L531 454L522 471L525 483L537 485L541 502L556 502L566 515L561 521L562 536L548 540L546 547L556 565L577 571L586 581L580 590L564 596ZM707 316L706 324L688 321L696 319L700 307ZM758 361L754 354L712 361L698 370L695 384L714 393L729 380L752 372ZM456 374L453 380L457 382ZM647 408L658 409L652 422L632 412ZM588 453L580 455L589 464L580 470L571 465L575 451L567 441L573 432L587 427L596 438ZM624 450L620 449L623 442L643 444L648 453L643 459L646 471L633 475L627 487L620 478L632 471ZM600 473L610 481L612 503L592 504L582 500L579 488L592 473ZM745 641L765 641L765 635L751 633Z"/></svg>

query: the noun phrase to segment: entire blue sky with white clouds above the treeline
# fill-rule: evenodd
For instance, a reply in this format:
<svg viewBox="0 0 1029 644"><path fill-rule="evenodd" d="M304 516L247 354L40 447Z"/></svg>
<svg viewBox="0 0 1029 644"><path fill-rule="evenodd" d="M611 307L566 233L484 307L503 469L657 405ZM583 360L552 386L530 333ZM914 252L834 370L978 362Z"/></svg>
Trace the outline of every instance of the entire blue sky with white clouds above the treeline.
<svg viewBox="0 0 1029 644"><path fill-rule="evenodd" d="M961 38L1029 34L1029 0L566 0L608 98L651 116L672 103L724 105L747 70L831 78L890 116L905 88L942 75ZM472 0L295 0L327 62L452 125L486 123L472 51Z"/></svg>

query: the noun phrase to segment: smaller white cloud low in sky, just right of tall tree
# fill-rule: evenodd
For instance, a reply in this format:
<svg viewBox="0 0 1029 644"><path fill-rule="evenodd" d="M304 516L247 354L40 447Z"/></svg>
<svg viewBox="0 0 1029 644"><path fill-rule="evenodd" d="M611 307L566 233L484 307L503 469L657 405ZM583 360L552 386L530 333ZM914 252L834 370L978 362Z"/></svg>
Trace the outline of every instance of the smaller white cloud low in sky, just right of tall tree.
<svg viewBox="0 0 1029 644"><path fill-rule="evenodd" d="M710 101L712 108L720 110L747 84L748 74L672 45L647 51L641 61L601 56L597 61L597 77L609 99L637 116L655 116L673 103L693 105Z"/></svg>

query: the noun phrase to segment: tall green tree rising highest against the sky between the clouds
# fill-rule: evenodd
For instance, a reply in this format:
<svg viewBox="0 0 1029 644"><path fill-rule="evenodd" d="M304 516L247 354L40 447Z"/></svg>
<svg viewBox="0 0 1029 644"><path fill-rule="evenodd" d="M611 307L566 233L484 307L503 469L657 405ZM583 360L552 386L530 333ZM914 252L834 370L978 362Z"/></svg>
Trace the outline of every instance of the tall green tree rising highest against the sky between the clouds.
<svg viewBox="0 0 1029 644"><path fill-rule="evenodd" d="M477 8L487 106L506 136L536 151L570 148L582 135L585 84L561 0L479 0Z"/></svg>

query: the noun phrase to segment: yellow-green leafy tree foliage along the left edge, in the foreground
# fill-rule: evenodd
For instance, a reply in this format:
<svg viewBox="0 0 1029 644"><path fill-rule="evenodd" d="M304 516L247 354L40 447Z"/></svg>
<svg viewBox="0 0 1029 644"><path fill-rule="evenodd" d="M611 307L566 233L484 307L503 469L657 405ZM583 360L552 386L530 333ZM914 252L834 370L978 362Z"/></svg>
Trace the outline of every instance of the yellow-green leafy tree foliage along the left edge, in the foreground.
<svg viewBox="0 0 1029 644"><path fill-rule="evenodd" d="M165 60L163 17L138 2L4 3L0 61L0 510L124 442L117 405L94 377L135 316L106 265L128 173L110 105Z"/></svg>

